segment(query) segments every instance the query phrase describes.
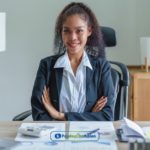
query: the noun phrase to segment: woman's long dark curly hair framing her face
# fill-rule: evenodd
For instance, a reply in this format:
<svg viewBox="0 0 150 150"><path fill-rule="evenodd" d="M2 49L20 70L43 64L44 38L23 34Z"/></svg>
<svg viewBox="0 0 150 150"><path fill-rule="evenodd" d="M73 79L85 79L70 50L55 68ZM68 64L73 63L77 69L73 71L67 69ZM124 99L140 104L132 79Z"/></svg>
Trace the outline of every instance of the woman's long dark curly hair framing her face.
<svg viewBox="0 0 150 150"><path fill-rule="evenodd" d="M100 25L92 12L92 10L83 3L71 2L68 4L59 14L56 26L55 26L55 37L54 37L54 49L57 53L65 51L65 46L62 41L62 27L66 18L71 15L78 14L84 16L88 25L92 28L92 34L88 37L86 43L86 51L95 57L105 57L105 46L100 30Z"/></svg>

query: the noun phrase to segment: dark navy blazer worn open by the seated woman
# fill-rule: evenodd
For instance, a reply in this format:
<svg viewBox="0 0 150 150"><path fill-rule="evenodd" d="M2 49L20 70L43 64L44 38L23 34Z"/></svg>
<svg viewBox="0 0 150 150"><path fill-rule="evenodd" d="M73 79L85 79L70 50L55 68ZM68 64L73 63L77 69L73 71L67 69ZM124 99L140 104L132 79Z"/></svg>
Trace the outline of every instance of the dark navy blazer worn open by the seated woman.
<svg viewBox="0 0 150 150"><path fill-rule="evenodd" d="M46 85L50 88L50 96L53 106L59 110L59 95L62 84L63 68L54 68L60 55L42 59L37 71L32 97L33 120L53 120L42 104L42 92ZM93 70L86 68L86 106L83 113L65 113L68 121L110 121L113 120L114 87L111 78L111 67L106 59L94 58L88 55ZM107 97L107 104L99 112L91 112L97 100Z"/></svg>

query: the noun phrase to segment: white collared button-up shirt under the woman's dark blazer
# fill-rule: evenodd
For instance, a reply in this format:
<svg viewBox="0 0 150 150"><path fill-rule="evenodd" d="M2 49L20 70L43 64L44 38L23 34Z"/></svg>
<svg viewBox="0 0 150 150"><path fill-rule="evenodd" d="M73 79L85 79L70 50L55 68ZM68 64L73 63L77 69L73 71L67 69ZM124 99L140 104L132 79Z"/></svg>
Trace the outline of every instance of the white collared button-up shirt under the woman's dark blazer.
<svg viewBox="0 0 150 150"><path fill-rule="evenodd" d="M86 105L86 67L93 69L84 51L76 75L71 68L67 52L58 58L54 68L64 68L59 98L60 112L83 112Z"/></svg>

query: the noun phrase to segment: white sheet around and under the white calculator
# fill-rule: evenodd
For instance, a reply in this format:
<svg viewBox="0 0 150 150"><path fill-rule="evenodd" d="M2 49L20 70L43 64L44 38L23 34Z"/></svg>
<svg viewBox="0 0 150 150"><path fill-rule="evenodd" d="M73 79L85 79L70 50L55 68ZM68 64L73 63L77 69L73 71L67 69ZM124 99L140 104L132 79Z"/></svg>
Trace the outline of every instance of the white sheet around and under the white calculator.
<svg viewBox="0 0 150 150"><path fill-rule="evenodd" d="M32 136L25 136L23 134L17 133L15 138L16 141L24 141L24 142L48 142L50 141L50 134L52 132L51 127L53 126L56 131L65 131L65 123L22 123L21 127L25 128L28 126L49 126L50 130L47 130L47 134L44 134L41 137L32 137Z"/></svg>

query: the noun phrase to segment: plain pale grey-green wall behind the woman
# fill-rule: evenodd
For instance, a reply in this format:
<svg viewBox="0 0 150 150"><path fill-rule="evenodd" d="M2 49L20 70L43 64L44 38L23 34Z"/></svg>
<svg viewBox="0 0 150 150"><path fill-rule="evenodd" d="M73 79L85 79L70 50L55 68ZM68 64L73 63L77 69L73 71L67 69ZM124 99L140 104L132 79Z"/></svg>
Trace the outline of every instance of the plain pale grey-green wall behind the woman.
<svg viewBox="0 0 150 150"><path fill-rule="evenodd" d="M77 0L78 1L78 0ZM55 20L71 0L0 0L6 12L6 51L0 53L0 120L30 109L41 58L53 54ZM118 44L109 60L139 65L139 37L150 36L149 0L81 0L103 26L116 30Z"/></svg>

